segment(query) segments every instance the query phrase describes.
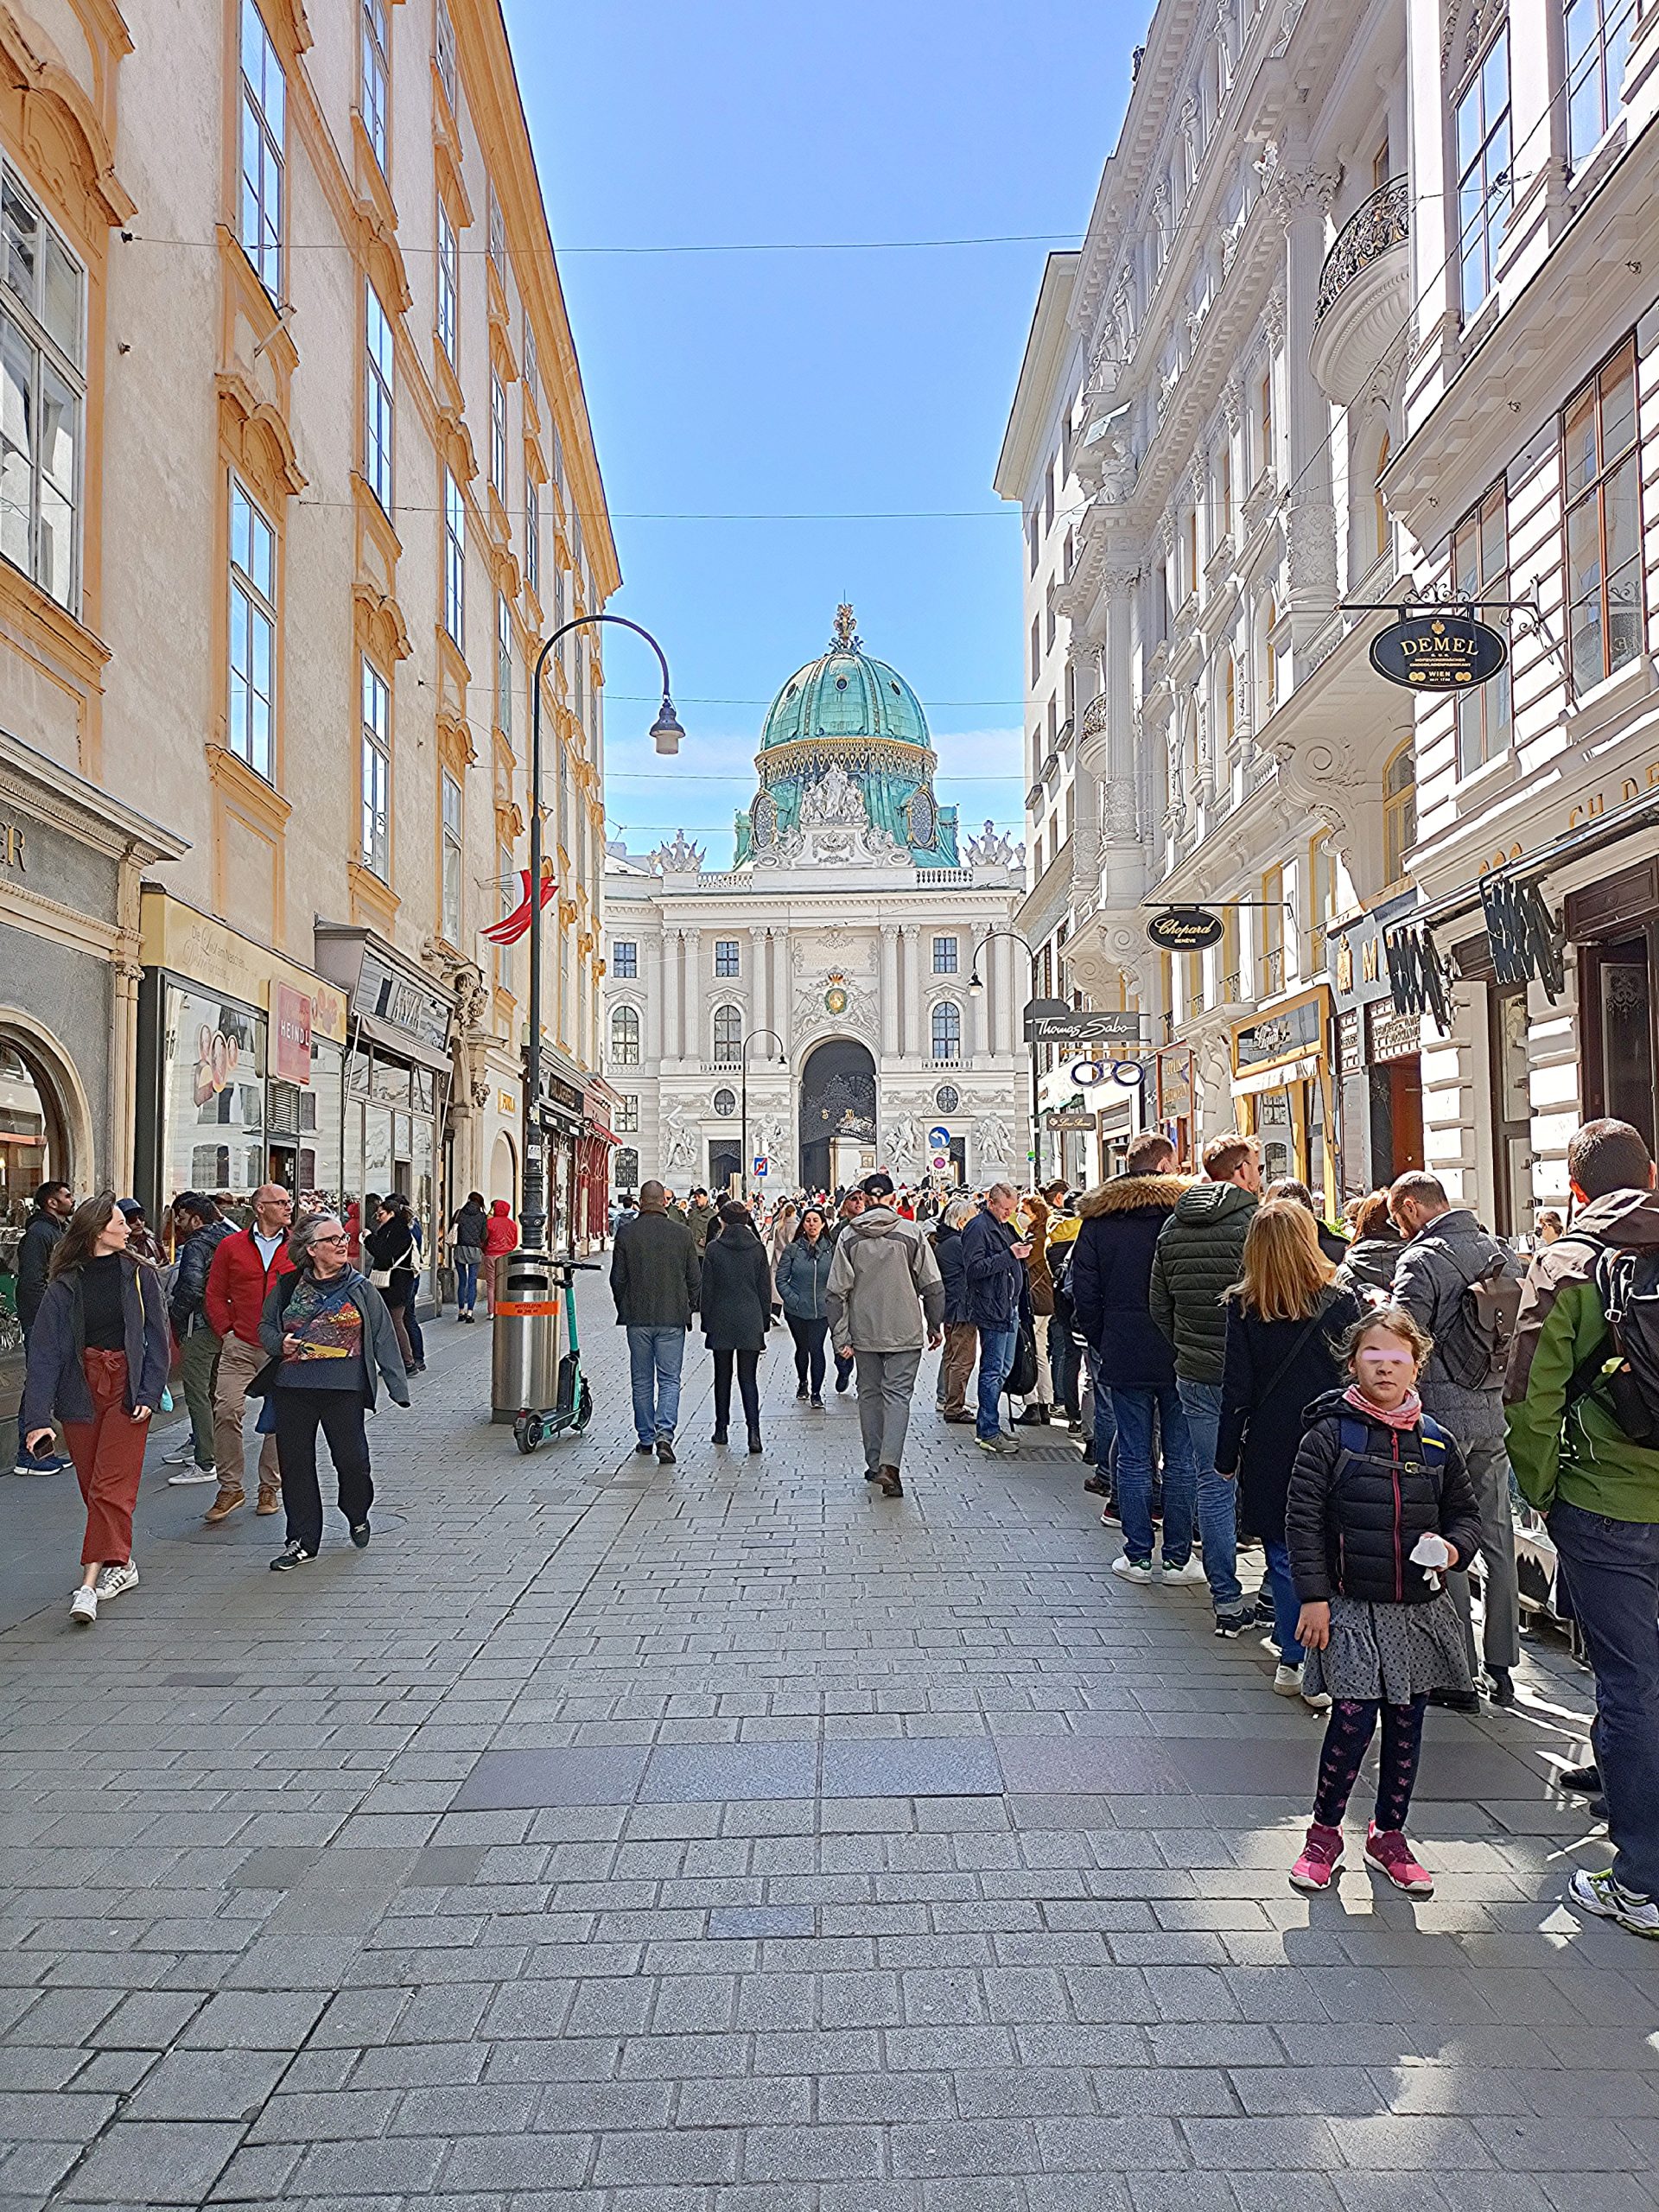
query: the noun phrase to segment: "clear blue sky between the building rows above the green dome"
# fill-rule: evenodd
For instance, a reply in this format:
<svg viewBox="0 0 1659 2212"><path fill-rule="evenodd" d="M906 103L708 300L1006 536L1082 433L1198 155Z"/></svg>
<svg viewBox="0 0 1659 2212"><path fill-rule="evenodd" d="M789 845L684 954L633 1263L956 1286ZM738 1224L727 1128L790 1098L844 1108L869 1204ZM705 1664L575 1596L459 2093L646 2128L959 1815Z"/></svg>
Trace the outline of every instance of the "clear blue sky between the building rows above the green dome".
<svg viewBox="0 0 1659 2212"><path fill-rule="evenodd" d="M661 637L688 732L657 761L648 653L613 633L611 834L646 852L684 825L730 863L765 703L843 597L929 710L940 799L1015 830L1020 520L991 471L1046 246L575 248L1073 243L1144 7L507 0L507 20L615 515L613 606Z"/></svg>

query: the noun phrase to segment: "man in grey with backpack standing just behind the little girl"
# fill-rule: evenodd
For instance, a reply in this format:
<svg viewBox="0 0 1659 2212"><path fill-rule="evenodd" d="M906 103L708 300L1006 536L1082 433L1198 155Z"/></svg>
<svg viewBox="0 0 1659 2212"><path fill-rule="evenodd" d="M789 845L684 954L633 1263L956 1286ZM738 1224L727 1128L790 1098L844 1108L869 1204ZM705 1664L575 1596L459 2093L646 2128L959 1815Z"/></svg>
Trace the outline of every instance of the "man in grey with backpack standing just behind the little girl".
<svg viewBox="0 0 1659 2212"><path fill-rule="evenodd" d="M1482 1230L1467 1206L1447 1199L1436 1175L1413 1170L1396 1177L1389 1214L1407 1239L1394 1272L1394 1298L1433 1338L1429 1365L1418 1380L1422 1409L1458 1438L1480 1504L1486 1694L1493 1705L1513 1705L1520 1586L1504 1453L1504 1367L1520 1314L1522 1265L1506 1243ZM1469 1672L1480 1681L1469 1575L1453 1575L1449 1590L1462 1615ZM1431 1703L1480 1712L1473 1690L1436 1690Z"/></svg>

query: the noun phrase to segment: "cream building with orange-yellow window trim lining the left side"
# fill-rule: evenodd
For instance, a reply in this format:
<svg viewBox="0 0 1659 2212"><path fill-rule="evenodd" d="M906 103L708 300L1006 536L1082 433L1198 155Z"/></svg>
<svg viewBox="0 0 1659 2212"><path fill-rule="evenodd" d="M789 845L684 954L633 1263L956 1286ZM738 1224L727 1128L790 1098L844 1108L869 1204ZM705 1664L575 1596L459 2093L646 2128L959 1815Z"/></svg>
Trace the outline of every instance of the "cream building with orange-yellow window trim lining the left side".
<svg viewBox="0 0 1659 2212"><path fill-rule="evenodd" d="M540 639L619 573L495 0L0 0L0 1221L49 1175L515 1203L482 931ZM595 639L544 684L577 1225Z"/></svg>

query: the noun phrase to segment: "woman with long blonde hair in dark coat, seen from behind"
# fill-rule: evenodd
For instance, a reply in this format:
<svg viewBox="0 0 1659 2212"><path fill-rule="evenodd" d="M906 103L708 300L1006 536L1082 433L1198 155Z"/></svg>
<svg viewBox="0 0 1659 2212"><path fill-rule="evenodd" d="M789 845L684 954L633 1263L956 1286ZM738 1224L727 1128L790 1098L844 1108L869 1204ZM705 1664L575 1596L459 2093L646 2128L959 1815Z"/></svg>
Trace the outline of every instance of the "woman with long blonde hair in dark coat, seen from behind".
<svg viewBox="0 0 1659 2212"><path fill-rule="evenodd" d="M1267 1199L1245 1234L1243 1279L1228 1292L1217 1473L1239 1480L1241 1517L1261 1535L1274 1601L1274 1690L1301 1697L1296 1586L1285 1548L1285 1493L1303 1433L1303 1407L1336 1389L1336 1343L1360 1318L1318 1248L1314 1217L1296 1199ZM1314 1699L1310 1699L1314 1703ZM1327 1699L1316 1703L1325 1705Z"/></svg>

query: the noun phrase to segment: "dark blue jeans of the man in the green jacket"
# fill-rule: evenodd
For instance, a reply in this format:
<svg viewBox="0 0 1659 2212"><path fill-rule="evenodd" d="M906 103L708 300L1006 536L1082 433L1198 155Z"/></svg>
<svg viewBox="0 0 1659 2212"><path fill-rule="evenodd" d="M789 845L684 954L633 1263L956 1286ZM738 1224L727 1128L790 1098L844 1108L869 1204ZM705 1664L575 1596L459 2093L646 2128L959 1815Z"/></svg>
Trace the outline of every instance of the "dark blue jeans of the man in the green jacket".
<svg viewBox="0 0 1659 2212"><path fill-rule="evenodd" d="M1613 1871L1626 1889L1659 1898L1659 1524L1562 1502L1548 1528L1595 1668L1590 1741Z"/></svg>

